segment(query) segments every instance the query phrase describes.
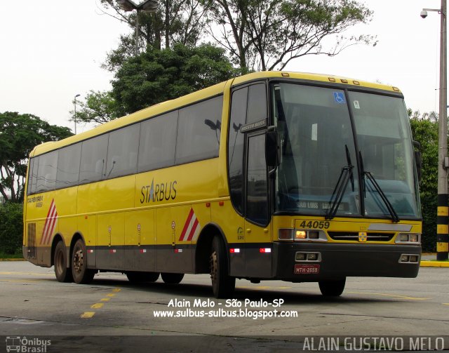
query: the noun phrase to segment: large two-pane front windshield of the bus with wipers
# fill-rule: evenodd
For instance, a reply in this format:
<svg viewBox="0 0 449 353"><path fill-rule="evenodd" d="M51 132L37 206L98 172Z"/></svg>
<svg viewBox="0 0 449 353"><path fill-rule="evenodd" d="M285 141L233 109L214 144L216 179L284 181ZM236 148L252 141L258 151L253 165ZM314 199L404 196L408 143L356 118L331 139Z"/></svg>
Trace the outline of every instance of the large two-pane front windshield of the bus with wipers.
<svg viewBox="0 0 449 353"><path fill-rule="evenodd" d="M276 212L420 218L403 99L279 83L272 100L281 149Z"/></svg>

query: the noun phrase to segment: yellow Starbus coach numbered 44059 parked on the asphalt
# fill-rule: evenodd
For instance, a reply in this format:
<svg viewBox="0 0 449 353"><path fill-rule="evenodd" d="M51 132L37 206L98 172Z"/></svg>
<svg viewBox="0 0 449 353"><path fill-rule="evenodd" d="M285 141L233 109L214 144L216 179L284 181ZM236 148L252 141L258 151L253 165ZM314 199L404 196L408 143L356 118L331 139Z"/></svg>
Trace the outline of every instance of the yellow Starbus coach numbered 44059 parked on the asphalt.
<svg viewBox="0 0 449 353"><path fill-rule="evenodd" d="M419 153L396 87L257 72L36 146L23 254L98 272L318 282L416 277Z"/></svg>

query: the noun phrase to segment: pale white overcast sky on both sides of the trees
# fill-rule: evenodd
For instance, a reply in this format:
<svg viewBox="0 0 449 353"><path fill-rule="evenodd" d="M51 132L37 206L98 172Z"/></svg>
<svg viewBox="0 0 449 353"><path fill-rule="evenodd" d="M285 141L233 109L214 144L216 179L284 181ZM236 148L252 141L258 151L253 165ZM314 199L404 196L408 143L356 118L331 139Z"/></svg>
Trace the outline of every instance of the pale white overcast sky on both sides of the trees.
<svg viewBox="0 0 449 353"><path fill-rule="evenodd" d="M139 1L136 1L139 2ZM359 1L374 11L351 34L377 36L376 46L350 46L335 57L311 55L290 62L297 72L335 74L401 88L406 105L438 112L439 0ZM69 126L76 94L112 88L102 69L120 34L131 29L102 12L99 0L0 0L0 112L34 114ZM78 132L89 126L77 126Z"/></svg>

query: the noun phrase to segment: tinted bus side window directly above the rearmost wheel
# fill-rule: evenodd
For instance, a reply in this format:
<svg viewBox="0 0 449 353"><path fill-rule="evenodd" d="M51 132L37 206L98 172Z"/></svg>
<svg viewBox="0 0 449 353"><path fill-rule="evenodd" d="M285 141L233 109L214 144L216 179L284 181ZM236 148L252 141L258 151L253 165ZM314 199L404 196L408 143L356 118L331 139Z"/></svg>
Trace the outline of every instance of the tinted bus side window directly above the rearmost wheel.
<svg viewBox="0 0 449 353"><path fill-rule="evenodd" d="M59 150L56 187L71 187L78 184L81 143Z"/></svg>

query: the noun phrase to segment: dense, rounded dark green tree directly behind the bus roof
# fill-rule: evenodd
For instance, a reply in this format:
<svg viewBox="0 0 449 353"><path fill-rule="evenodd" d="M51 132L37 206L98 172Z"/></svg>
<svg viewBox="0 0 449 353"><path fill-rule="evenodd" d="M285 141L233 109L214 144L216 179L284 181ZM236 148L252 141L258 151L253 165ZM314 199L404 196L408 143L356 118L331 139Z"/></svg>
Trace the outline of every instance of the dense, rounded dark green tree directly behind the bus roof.
<svg viewBox="0 0 449 353"><path fill-rule="evenodd" d="M225 51L210 44L147 49L116 72L112 96L129 114L226 81L237 74Z"/></svg>

